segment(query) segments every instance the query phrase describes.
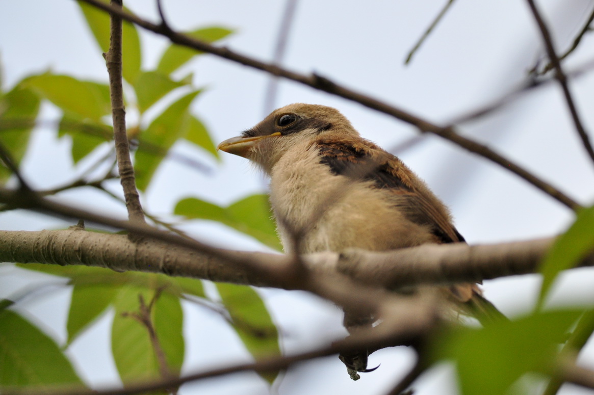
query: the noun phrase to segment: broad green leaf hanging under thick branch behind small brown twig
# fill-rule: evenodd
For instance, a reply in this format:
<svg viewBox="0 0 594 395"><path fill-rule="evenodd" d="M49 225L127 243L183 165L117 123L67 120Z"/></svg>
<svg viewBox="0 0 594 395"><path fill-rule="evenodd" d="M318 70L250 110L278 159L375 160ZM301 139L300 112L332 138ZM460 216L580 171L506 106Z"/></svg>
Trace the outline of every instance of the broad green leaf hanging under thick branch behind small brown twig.
<svg viewBox="0 0 594 395"><path fill-rule="evenodd" d="M116 315L112 326L113 359L124 384L161 377L159 362L146 326L133 318L140 308L139 295L149 304L156 282L151 276L145 287L122 287L115 298ZM179 299L162 293L151 310L151 322L165 353L169 372L178 374L184 360L182 310Z"/></svg>

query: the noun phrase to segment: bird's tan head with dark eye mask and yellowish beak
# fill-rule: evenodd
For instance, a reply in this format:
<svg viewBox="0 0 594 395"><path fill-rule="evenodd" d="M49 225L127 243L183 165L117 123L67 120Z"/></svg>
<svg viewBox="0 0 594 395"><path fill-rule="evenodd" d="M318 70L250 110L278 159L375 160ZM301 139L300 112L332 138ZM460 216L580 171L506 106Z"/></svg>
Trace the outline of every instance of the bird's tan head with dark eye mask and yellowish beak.
<svg viewBox="0 0 594 395"><path fill-rule="evenodd" d="M217 148L245 157L270 171L287 150L331 135L339 138L359 134L337 109L295 103L274 110L255 127L223 141Z"/></svg>

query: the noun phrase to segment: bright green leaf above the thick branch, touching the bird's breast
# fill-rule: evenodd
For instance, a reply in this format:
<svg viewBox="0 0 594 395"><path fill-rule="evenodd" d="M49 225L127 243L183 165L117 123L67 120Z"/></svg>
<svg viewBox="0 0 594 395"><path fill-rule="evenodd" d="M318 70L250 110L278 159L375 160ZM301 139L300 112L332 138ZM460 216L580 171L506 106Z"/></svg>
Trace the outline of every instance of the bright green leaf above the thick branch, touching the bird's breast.
<svg viewBox="0 0 594 395"><path fill-rule="evenodd" d="M197 198L185 198L178 201L173 212L189 219L206 219L223 223L252 236L270 248L282 250L267 195L251 195L227 208Z"/></svg>

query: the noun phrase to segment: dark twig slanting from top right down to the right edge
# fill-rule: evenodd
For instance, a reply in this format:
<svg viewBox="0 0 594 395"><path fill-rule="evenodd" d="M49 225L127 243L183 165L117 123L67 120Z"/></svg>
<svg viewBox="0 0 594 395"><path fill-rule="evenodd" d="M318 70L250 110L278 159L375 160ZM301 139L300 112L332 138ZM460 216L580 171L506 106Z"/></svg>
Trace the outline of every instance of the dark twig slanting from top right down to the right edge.
<svg viewBox="0 0 594 395"><path fill-rule="evenodd" d="M565 96L565 102L567 103L567 107L569 112L571 113L571 119L573 119L573 123L576 126L577 133L580 135L582 139L582 144L586 149L586 152L590 156L592 163L594 164L594 148L592 148L592 144L590 144L590 138L584 128L582 121L580 120L580 116L577 113L577 108L573 100L573 96L571 96L571 92L569 90L569 85L567 84L567 76L563 72L563 68L561 68L561 62L557 57L557 53L555 53L555 47L552 42L551 34L549 33L548 28L546 27L545 21L542 19L538 8L536 8L536 4L534 0L526 0L532 10L532 14L538 24L539 29L541 30L542 39L545 43L546 53L549 56L549 61L553 65L555 69L555 78L559 81L561 89L563 90L563 95Z"/></svg>

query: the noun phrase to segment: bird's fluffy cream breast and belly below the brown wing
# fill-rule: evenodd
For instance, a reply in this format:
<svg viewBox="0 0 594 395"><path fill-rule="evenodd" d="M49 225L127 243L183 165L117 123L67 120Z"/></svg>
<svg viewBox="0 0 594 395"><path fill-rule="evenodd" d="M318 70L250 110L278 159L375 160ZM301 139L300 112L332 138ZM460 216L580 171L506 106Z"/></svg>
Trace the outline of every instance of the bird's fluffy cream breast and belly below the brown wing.
<svg viewBox="0 0 594 395"><path fill-rule="evenodd" d="M371 181L335 175L313 149L286 153L270 173L270 202L285 252L301 235L302 252L387 250L433 241L410 222L389 192Z"/></svg>

